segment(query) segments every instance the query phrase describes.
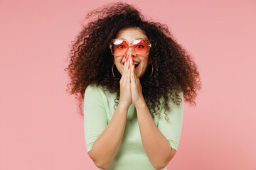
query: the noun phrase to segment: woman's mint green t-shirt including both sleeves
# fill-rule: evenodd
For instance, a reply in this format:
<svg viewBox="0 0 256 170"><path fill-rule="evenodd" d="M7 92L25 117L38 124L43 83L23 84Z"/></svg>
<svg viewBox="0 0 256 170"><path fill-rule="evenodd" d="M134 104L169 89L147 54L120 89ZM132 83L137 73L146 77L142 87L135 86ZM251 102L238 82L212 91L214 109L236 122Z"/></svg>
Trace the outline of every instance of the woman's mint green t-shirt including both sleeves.
<svg viewBox="0 0 256 170"><path fill-rule="evenodd" d="M114 114L114 99L116 94L103 91L101 86L87 86L84 99L84 132L87 153L92 149L97 137L107 128ZM169 123L165 120L164 109L160 106L159 119L154 116L154 123L159 131L166 137L170 146L176 151L181 137L183 121L183 93L179 94L182 102L180 106L169 103L171 111L168 113ZM106 144L107 147L107 144ZM139 132L137 111L134 105L129 106L127 122L119 150L109 166L110 170L153 170L154 166L149 161L142 145ZM167 166L163 169L166 170Z"/></svg>

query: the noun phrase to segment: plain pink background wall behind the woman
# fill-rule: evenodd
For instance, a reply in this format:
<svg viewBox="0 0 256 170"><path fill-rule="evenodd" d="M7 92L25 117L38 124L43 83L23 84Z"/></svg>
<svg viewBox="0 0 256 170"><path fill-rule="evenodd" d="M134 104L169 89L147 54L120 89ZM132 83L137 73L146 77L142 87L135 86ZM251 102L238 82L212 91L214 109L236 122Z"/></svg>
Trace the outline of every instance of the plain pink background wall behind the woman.
<svg viewBox="0 0 256 170"><path fill-rule="evenodd" d="M80 21L107 2L0 1L0 169L97 169L63 70ZM129 2L166 23L201 72L168 169L256 169L256 1Z"/></svg>

